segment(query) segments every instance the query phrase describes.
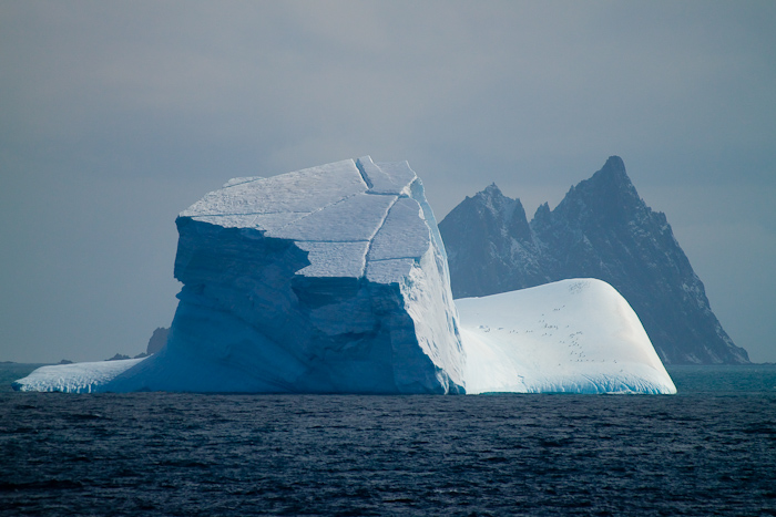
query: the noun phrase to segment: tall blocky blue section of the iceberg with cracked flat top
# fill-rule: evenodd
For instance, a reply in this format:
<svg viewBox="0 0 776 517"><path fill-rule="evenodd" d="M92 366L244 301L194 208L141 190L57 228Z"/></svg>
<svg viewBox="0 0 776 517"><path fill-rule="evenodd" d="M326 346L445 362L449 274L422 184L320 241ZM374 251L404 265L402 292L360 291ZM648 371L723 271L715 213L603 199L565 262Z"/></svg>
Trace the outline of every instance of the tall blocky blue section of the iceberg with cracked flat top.
<svg viewBox="0 0 776 517"><path fill-rule="evenodd" d="M406 162L232 179L176 225L166 345L91 392L463 391L447 258Z"/></svg>

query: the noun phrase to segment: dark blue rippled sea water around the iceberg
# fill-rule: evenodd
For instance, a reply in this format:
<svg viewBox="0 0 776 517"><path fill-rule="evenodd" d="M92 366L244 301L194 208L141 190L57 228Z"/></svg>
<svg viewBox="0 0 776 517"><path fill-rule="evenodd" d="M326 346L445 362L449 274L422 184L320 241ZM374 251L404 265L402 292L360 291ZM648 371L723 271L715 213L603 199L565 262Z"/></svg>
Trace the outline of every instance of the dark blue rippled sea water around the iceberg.
<svg viewBox="0 0 776 517"><path fill-rule="evenodd" d="M14 368L3 516L776 515L774 365L673 368L673 396L14 393Z"/></svg>

